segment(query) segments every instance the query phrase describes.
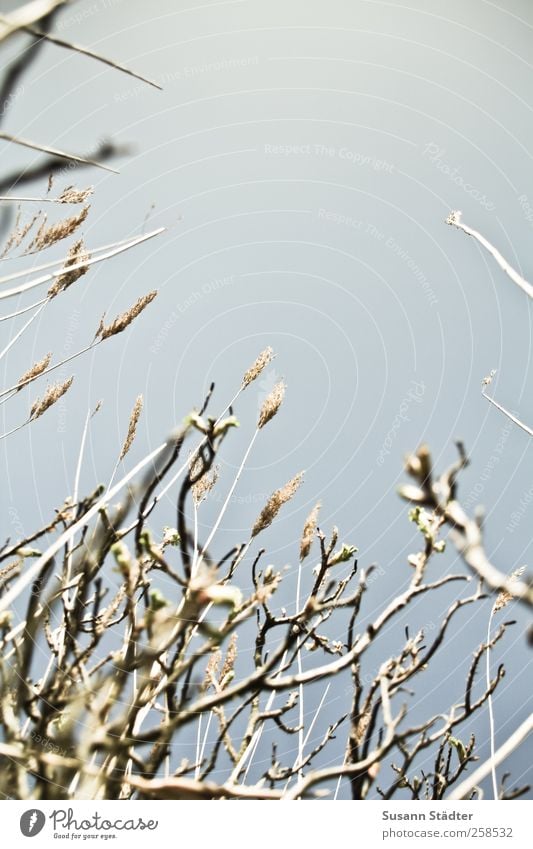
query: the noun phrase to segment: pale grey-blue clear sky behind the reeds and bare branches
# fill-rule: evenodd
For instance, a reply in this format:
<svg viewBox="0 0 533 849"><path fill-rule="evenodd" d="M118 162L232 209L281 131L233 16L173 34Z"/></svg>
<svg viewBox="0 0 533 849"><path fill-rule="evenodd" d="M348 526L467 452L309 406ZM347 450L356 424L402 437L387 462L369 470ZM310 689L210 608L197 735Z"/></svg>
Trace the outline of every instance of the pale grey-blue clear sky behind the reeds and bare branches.
<svg viewBox="0 0 533 849"><path fill-rule="evenodd" d="M118 174L67 166L56 178L60 188L95 186L89 247L166 231L96 266L3 358L7 386L47 351L60 359L83 348L104 311L114 316L159 292L105 351L60 370L75 375L64 404L2 441L3 536L45 522L72 492L83 423L98 400L86 491L109 480L139 393L145 410L124 471L201 404L212 380L213 410L223 409L270 345L275 360L235 411L241 427L222 457L220 495L201 515L205 535L262 401L280 379L287 396L231 499L221 552L246 538L274 489L305 470L266 539L271 562L288 567L286 602L294 603L300 530L320 500L324 529L336 525L361 565L378 565L371 616L405 587L418 544L396 492L405 454L426 442L443 469L462 439L471 464L459 494L470 513L485 508L489 555L506 573L527 564L531 440L482 397L481 381L495 369L494 397L533 425L531 304L446 218L461 210L531 277L531 4L80 0L58 15L55 33L163 90L48 45L15 90L3 130L82 155L107 138L128 148L111 163ZM0 157L3 173L40 161L5 142ZM21 323L2 325L2 347ZM2 432L24 419L36 391L2 407ZM172 517L169 498L161 522ZM464 567L449 547L431 576L451 569ZM431 630L451 600L444 592L417 604L399 626ZM459 693L490 607L460 617L418 710ZM494 700L498 744L530 710L526 618L512 616L493 658L507 667ZM344 685L328 694L326 724L343 694ZM482 714L473 729L484 756L487 728ZM530 761L510 760L518 783Z"/></svg>

